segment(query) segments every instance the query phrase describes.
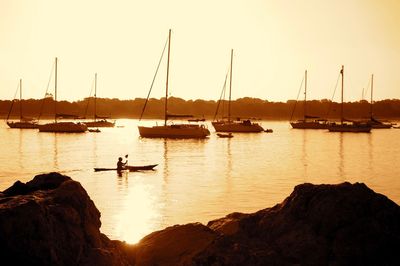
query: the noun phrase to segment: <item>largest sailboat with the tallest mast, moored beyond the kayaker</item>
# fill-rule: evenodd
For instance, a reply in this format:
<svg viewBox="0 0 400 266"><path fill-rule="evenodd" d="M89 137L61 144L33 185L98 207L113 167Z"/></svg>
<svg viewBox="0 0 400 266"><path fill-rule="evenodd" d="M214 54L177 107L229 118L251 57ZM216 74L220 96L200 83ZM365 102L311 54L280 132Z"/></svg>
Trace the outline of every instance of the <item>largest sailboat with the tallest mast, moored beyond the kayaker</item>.
<svg viewBox="0 0 400 266"><path fill-rule="evenodd" d="M169 33L168 33L168 60L167 60L167 80L166 80L166 85L165 85L164 125L162 125L162 126L156 125L153 127L138 126L139 134L142 138L185 138L185 139L186 138L197 138L197 139L206 138L207 136L210 135L210 131L204 125L198 125L198 124L168 125L167 124L169 117L181 117L180 115L168 114L168 78L169 78L170 47L171 47L171 30L169 30ZM147 97L146 103L147 103L147 101L148 101L148 97ZM145 103L145 107L146 107L146 103ZM144 108L143 108L143 111L144 111Z"/></svg>

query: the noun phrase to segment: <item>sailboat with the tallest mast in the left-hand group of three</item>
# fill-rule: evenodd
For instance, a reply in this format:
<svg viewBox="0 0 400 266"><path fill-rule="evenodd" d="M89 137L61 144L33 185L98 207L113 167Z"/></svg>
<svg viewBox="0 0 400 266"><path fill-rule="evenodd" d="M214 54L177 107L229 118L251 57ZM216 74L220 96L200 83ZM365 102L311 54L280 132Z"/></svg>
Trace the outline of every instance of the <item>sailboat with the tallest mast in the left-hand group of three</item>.
<svg viewBox="0 0 400 266"><path fill-rule="evenodd" d="M57 57L55 59L55 78L54 78L54 123L39 125L39 132L63 132L63 133L83 133L87 131L87 126L83 123L59 122L58 117L65 115L57 114Z"/></svg>

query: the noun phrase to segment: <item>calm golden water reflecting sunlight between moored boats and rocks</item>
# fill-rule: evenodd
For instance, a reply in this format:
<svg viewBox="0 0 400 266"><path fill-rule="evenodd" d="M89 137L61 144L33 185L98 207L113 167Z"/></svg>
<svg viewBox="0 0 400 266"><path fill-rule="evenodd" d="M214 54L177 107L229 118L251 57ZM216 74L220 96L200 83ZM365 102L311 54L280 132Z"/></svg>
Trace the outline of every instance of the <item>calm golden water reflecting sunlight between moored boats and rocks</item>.
<svg viewBox="0 0 400 266"><path fill-rule="evenodd" d="M0 124L0 190L17 179L59 171L81 182L101 211L102 232L137 242L174 224L254 212L281 202L299 183L364 182L400 204L400 130L371 134L294 130L263 122L274 133L212 134L206 140L141 139L137 120L101 133L54 134ZM153 121L142 122L153 125ZM158 163L156 171L93 171Z"/></svg>

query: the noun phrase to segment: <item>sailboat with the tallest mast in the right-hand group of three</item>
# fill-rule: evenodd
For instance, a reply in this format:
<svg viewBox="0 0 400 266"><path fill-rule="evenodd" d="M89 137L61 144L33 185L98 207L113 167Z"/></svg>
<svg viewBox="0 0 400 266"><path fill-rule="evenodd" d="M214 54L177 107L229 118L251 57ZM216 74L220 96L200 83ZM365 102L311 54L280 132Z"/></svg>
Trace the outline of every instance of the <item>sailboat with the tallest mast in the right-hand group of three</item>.
<svg viewBox="0 0 400 266"><path fill-rule="evenodd" d="M341 97L341 108L340 108L340 124L332 123L328 126L328 130L330 132L371 132L371 125L365 122L357 122L352 120L344 119L343 117L343 81L344 81L344 66L340 70L340 74L342 75L342 97Z"/></svg>

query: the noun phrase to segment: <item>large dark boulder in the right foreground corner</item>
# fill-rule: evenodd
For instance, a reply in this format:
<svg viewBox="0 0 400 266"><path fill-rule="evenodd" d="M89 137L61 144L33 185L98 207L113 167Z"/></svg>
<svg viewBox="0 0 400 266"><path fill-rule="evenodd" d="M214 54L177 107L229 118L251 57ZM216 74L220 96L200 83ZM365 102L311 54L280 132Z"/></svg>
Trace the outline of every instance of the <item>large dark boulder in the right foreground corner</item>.
<svg viewBox="0 0 400 266"><path fill-rule="evenodd" d="M232 224L235 230L230 230ZM193 265L398 265L400 207L364 184L296 186L281 204L209 222ZM228 232L228 233L226 233Z"/></svg>

